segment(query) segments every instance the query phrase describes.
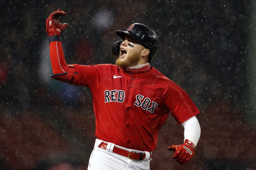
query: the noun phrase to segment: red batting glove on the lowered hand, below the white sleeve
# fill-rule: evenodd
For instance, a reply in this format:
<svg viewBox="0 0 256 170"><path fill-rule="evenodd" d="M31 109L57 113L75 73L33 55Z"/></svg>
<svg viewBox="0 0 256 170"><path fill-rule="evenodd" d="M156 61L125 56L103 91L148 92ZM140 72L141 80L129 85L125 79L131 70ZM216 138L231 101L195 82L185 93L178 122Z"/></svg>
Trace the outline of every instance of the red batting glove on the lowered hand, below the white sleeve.
<svg viewBox="0 0 256 170"><path fill-rule="evenodd" d="M195 148L195 145L186 139L185 142L181 145L169 146L168 150L174 151L172 159L175 159L180 164L185 164L193 157L193 155L195 155Z"/></svg>

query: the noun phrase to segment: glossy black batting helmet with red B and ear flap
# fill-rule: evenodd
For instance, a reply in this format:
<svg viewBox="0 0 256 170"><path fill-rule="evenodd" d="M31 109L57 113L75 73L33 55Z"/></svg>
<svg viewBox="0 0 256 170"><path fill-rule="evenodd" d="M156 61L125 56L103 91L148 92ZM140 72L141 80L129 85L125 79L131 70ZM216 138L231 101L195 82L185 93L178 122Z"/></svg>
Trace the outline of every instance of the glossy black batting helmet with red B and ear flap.
<svg viewBox="0 0 256 170"><path fill-rule="evenodd" d="M145 48L150 50L148 55L148 61L151 62L158 52L159 47L159 39L156 35L155 31L144 24L134 23L130 25L126 31L116 31L116 34L124 39L125 36L131 37L132 39L136 39L139 41ZM119 55L119 48L122 41L115 42L112 47L112 51L114 55ZM118 51L116 51L118 50ZM117 53L116 53L116 52Z"/></svg>

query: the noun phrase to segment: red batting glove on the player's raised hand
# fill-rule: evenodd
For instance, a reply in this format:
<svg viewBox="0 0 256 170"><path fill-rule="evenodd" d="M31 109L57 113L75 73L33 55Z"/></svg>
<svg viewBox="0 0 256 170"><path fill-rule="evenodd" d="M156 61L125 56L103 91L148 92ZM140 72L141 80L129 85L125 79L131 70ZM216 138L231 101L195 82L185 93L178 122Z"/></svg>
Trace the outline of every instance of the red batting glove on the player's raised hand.
<svg viewBox="0 0 256 170"><path fill-rule="evenodd" d="M66 15L66 12L60 11L61 9L58 9L55 12L52 12L51 15L46 19L46 33L48 36L60 36L60 32L63 31L69 24L64 23L61 24L59 22L59 17L61 15Z"/></svg>

